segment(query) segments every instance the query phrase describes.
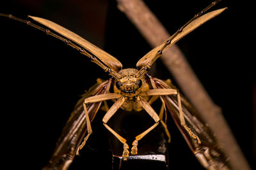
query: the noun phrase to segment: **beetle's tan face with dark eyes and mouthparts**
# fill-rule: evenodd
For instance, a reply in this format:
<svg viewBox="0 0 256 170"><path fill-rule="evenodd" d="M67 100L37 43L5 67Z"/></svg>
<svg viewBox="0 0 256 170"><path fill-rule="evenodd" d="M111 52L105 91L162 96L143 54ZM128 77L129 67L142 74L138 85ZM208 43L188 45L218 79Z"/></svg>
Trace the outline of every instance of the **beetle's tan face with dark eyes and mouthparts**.
<svg viewBox="0 0 256 170"><path fill-rule="evenodd" d="M145 80L136 78L135 74L138 72L137 69L122 69L118 73L122 78L115 80L115 92L123 94L127 97L133 97L138 95L141 91L141 87L145 83Z"/></svg>

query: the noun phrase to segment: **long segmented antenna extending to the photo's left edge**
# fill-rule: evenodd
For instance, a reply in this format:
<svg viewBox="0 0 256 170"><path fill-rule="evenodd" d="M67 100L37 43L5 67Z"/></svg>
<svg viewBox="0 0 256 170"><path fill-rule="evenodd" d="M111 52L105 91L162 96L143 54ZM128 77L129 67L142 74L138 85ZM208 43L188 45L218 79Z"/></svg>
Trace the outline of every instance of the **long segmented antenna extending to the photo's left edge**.
<svg viewBox="0 0 256 170"><path fill-rule="evenodd" d="M70 39L63 38L62 36L59 36L58 34L55 34L54 32L51 32L49 29L45 29L44 27L40 27L36 24L33 24L29 20L23 20L21 18L15 17L11 14L0 13L0 16L8 17L8 18L13 19L13 20L17 20L17 21L22 22L24 24L27 24L31 27L35 27L36 29L39 29L40 31L45 32L45 34L47 34L47 35L50 35L50 36L53 36L54 38L60 39L66 45L72 46L72 48L76 49L81 54L86 55L87 57L89 57L92 62L94 62L98 66L102 67L102 69L104 69L104 71L106 71L109 75L111 75L111 76L113 76L117 79L121 78L120 74L116 73L116 71L113 71L111 68L109 68L108 66L105 66L102 62L100 62L100 60L97 59L97 56L93 55L93 53L85 50L84 48L81 48L81 46L78 46L75 43L72 43L72 41L70 41Z"/></svg>

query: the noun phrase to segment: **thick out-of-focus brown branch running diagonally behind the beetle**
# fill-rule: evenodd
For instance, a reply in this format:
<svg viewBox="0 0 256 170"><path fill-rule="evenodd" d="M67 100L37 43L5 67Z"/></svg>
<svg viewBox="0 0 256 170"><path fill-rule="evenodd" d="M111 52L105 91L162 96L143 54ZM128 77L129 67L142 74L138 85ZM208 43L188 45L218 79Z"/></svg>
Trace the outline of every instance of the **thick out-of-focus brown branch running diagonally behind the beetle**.
<svg viewBox="0 0 256 170"><path fill-rule="evenodd" d="M127 15L152 47L161 44L170 37L170 34L143 1L116 1L118 2L118 8ZM236 143L236 139L223 118L220 107L213 103L179 48L173 45L163 53L161 59L179 83L179 87L183 90L185 96L188 97L216 134L223 152L230 158L232 169L250 169Z"/></svg>

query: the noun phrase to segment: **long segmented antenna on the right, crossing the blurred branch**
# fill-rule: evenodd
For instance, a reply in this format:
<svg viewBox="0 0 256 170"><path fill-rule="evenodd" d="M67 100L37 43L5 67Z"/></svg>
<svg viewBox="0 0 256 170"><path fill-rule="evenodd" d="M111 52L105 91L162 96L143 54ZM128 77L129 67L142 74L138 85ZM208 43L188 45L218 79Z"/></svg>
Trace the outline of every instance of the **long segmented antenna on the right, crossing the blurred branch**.
<svg viewBox="0 0 256 170"><path fill-rule="evenodd" d="M212 8L213 6L215 6L217 3L219 3L221 0L217 0L217 1L213 1L209 6L207 6L206 8L204 8L204 10L200 11L199 13L197 13L193 18L191 18L191 20L189 20L185 25L183 25L182 27L180 27L172 36L170 36L170 38L166 39L164 45L156 52L156 55L153 57L153 59L149 60L147 64L145 64L143 67L138 66L138 63L140 63L140 60L137 63L137 67L140 68L140 71L138 71L138 73L136 74L136 77L140 77L143 74L145 74L148 69L151 68L152 64L154 64L154 62L162 55L163 51L166 50L166 48L168 48L171 43L172 40L175 39L177 37L177 35L179 35L183 29L188 26L189 24L191 24L191 22L193 22L194 20L196 20L197 18L201 17L201 15L203 15L207 10L209 10L210 8ZM157 47L156 47L157 48ZM147 54L146 54L147 55ZM143 58L141 58L143 60ZM140 63L141 64L141 63ZM139 65L140 65L139 64Z"/></svg>

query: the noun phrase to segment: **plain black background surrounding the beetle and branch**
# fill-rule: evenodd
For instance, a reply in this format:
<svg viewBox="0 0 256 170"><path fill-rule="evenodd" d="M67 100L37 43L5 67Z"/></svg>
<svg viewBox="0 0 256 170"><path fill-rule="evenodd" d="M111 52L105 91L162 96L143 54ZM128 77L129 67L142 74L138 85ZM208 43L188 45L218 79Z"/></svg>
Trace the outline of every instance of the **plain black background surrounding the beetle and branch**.
<svg viewBox="0 0 256 170"><path fill-rule="evenodd" d="M170 34L211 3L145 2ZM222 108L246 159L255 168L254 9L252 1L222 1L214 9L225 6L228 10L182 38L177 45L213 101ZM4 1L0 4L0 12L20 18L33 15L52 20L114 55L124 68L135 67L151 49L118 11L113 0ZM58 39L15 20L0 18L0 38L4 162L10 167L8 169L17 166L40 169L51 157L79 95L88 90L96 78L106 79L108 75ZM160 61L157 61L157 68L154 76L172 78ZM97 117L100 120L103 115ZM172 135L170 169L202 169L172 120L169 122ZM108 147L106 135L96 138L106 134L105 129L102 125L93 126L93 132L88 147L70 169L85 169L89 164L97 167L100 165L97 162L111 166L108 163L111 159L97 155L97 151ZM95 143L104 145L97 148ZM83 156L89 153L91 160Z"/></svg>

